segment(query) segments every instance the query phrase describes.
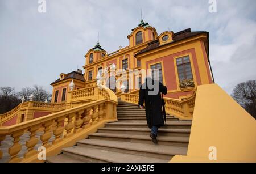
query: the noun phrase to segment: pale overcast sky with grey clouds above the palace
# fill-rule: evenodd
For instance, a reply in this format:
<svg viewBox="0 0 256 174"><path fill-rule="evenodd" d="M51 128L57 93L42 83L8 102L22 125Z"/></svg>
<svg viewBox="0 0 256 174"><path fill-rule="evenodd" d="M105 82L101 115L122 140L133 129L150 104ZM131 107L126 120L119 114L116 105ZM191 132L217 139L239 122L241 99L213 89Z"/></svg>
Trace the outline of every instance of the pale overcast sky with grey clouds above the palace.
<svg viewBox="0 0 256 174"><path fill-rule="evenodd" d="M144 22L158 34L209 31L213 75L229 94L237 83L256 79L256 1L217 0L38 0L0 1L0 86L45 87L60 73L82 69L84 55L97 43L108 53L129 45L127 35Z"/></svg>

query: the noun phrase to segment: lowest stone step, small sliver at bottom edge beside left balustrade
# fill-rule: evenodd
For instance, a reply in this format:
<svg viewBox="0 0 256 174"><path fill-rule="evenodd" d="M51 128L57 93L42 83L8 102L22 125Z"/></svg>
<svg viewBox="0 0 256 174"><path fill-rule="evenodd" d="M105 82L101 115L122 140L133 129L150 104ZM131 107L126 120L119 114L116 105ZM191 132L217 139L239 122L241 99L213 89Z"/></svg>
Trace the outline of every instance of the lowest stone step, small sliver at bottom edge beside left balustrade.
<svg viewBox="0 0 256 174"><path fill-rule="evenodd" d="M56 156L50 156L46 158L47 163L83 163L82 160L68 156L65 154L60 154Z"/></svg>

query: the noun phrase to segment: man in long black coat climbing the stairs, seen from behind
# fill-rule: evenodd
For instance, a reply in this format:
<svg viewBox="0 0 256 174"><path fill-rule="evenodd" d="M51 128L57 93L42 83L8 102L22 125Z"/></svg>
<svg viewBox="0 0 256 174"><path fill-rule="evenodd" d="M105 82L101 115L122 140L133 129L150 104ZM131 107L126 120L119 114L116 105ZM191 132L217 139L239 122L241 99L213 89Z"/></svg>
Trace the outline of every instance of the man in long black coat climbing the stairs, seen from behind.
<svg viewBox="0 0 256 174"><path fill-rule="evenodd" d="M167 94L166 86L150 77L146 78L146 82L139 89L139 108L144 108L145 101L147 125L151 129L150 137L155 144L158 143L158 129L164 126L161 92Z"/></svg>

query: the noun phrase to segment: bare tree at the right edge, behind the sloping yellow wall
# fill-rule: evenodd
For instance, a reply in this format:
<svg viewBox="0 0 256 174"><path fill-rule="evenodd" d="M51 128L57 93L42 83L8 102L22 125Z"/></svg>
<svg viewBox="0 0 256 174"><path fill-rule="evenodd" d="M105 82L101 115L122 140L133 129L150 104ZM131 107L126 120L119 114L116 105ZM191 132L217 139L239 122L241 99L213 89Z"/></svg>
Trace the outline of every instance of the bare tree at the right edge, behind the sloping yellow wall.
<svg viewBox="0 0 256 174"><path fill-rule="evenodd" d="M256 80L237 84L231 96L256 118Z"/></svg>

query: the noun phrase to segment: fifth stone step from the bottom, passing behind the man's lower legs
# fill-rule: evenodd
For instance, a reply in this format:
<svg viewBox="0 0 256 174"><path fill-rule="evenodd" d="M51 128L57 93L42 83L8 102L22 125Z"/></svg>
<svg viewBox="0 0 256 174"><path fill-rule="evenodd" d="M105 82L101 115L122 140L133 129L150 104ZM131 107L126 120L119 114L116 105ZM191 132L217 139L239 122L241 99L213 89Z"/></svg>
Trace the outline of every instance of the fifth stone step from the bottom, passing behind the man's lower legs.
<svg viewBox="0 0 256 174"><path fill-rule="evenodd" d="M139 135L149 135L151 129L148 128L99 128L98 133L121 133L121 134L139 134ZM159 136L180 136L189 137L190 129L162 129L158 131Z"/></svg>

